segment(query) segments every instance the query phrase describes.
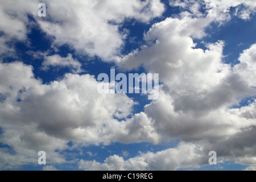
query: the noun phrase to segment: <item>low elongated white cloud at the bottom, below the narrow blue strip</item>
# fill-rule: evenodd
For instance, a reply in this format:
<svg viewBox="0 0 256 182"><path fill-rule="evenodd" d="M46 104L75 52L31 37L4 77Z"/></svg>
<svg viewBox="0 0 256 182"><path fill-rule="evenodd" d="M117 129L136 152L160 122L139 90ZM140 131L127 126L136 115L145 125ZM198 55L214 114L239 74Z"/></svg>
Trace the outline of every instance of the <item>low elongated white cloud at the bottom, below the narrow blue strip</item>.
<svg viewBox="0 0 256 182"><path fill-rule="evenodd" d="M173 171L181 168L198 168L199 163L207 160L201 154L201 148L195 144L180 143L177 148L160 152L147 152L124 160L121 156L109 156L104 163L81 159L80 169L87 171Z"/></svg>

